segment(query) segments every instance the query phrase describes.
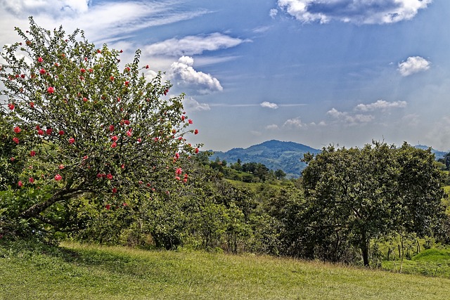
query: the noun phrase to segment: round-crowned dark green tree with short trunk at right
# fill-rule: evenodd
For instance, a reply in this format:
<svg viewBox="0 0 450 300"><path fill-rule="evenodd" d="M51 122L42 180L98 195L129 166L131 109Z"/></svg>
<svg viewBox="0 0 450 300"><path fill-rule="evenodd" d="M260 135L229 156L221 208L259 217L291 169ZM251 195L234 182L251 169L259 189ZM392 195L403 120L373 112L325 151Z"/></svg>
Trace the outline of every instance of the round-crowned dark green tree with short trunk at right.
<svg viewBox="0 0 450 300"><path fill-rule="evenodd" d="M442 174L430 150L374 142L362 149L330 146L316 157L305 155L305 161L304 215L310 226L359 247L364 266L371 239L395 232L431 234L442 216Z"/></svg>

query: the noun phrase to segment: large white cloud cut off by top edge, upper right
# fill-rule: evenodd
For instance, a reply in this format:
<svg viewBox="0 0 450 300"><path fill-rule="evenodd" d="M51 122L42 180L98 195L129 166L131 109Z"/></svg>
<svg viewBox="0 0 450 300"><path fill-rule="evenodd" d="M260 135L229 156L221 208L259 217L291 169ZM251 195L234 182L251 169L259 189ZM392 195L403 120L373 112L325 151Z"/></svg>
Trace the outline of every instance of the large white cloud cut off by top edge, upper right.
<svg viewBox="0 0 450 300"><path fill-rule="evenodd" d="M432 0L278 0L278 7L300 22L331 20L385 24L410 20Z"/></svg>

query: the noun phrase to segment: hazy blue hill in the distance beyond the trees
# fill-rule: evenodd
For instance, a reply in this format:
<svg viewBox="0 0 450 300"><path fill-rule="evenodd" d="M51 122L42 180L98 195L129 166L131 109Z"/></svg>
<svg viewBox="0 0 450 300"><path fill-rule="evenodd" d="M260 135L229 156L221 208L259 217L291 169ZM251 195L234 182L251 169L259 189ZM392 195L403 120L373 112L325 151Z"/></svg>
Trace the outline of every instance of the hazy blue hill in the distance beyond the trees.
<svg viewBox="0 0 450 300"><path fill-rule="evenodd" d="M266 165L274 171L281 169L288 178L300 177L306 164L301 161L307 152L319 153L321 150L311 148L294 142L266 141L259 145L252 145L249 148L233 148L226 152L213 151L210 157L215 160L226 160L228 164L234 164L240 159L242 164L246 162L258 162Z"/></svg>

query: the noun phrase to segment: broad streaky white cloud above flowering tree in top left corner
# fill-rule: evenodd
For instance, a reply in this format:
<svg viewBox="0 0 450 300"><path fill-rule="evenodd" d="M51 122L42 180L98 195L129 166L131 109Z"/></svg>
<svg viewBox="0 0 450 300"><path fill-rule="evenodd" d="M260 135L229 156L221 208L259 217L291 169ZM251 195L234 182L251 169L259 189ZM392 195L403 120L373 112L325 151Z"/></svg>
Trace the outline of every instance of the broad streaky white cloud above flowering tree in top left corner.
<svg viewBox="0 0 450 300"><path fill-rule="evenodd" d="M210 13L205 9L180 11L176 4L180 1L0 0L0 44L15 41L13 27L25 29L29 15L46 29L63 25L66 32L72 33L79 27L89 41L109 44L126 40L138 30Z"/></svg>

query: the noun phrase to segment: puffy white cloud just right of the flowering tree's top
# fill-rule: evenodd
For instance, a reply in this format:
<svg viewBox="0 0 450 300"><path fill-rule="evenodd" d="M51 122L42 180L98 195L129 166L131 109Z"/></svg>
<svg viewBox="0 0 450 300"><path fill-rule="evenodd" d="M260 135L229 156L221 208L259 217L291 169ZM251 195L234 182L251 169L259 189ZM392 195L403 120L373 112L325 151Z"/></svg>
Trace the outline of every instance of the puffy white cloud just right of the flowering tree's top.
<svg viewBox="0 0 450 300"><path fill-rule="evenodd" d="M193 63L194 60L190 56L181 56L177 62L170 66L169 78L175 79L177 84L186 87L194 86L200 93L223 90L217 78L212 77L211 74L194 70Z"/></svg>

